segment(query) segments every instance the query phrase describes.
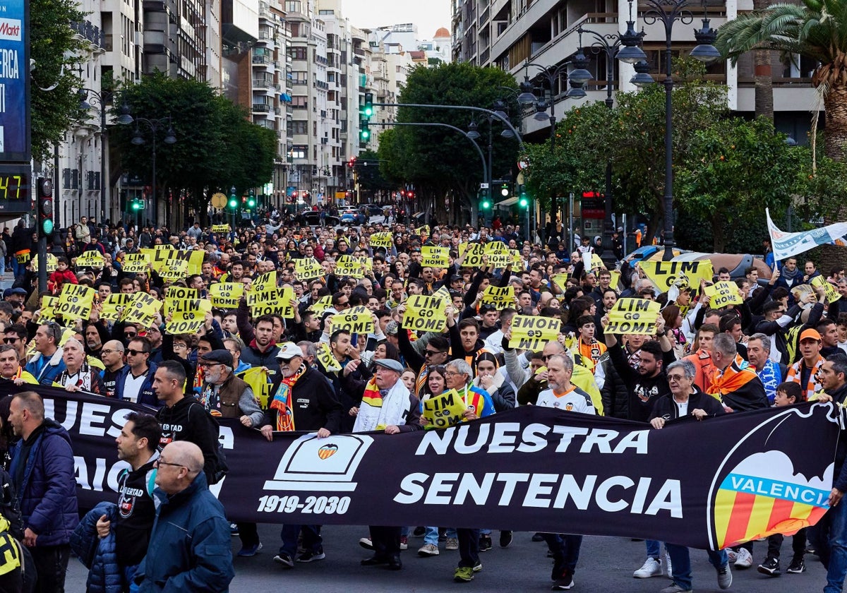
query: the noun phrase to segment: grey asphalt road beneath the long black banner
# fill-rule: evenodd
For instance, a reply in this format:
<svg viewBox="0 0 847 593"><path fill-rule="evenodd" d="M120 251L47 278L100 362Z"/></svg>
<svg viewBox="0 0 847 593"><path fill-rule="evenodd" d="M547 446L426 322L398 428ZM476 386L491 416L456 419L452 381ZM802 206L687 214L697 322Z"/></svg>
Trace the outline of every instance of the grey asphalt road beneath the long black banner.
<svg viewBox="0 0 847 593"><path fill-rule="evenodd" d="M423 545L423 538L412 537L409 549L402 553L403 570L391 572L384 568L359 566L368 557L368 551L359 547L360 537L367 535L364 527L327 526L324 528L326 559L316 563L298 564L293 570L285 569L272 561L279 546L279 528L260 525L264 549L252 558L235 559L235 580L231 593L264 593L265 591L320 591L321 593L439 593L457 589L477 591L544 591L549 590L551 560L546 557L546 546L531 541L531 534L516 533L511 547L497 547L498 533L493 534L494 549L481 555L483 570L473 583L462 585L452 580L453 568L458 561L457 551L445 551L441 545L438 557L419 558L415 554ZM238 551L239 540L232 538L233 553ZM760 563L765 543L757 542L754 555ZM583 541L579 566L574 577L573 591L613 591L656 593L670 585L665 577L633 579L632 574L644 560L645 545L624 538L586 537ZM783 551L791 553L790 540L783 543ZM706 559L706 552L692 551L694 586L697 591L718 591L715 570ZM822 590L825 574L817 558L806 556L809 569L804 574L783 574L770 578L758 574L756 568L734 571L731 590L744 593L811 593ZM785 568L783 564L783 569ZM85 590L86 569L71 558L66 589Z"/></svg>

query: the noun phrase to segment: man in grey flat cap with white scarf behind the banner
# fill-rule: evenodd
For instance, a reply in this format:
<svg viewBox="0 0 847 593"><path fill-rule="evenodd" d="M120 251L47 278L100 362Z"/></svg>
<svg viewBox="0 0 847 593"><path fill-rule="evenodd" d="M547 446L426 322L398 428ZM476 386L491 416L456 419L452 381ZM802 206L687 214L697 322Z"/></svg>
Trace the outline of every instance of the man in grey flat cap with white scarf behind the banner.
<svg viewBox="0 0 847 593"><path fill-rule="evenodd" d="M420 402L400 380L404 367L393 358L374 361L376 373L367 382L351 380L352 369L344 369L342 381L350 393L361 395L359 407L350 411L356 414L353 432L382 430L386 435L422 430L420 424ZM349 364L347 365L350 366ZM374 556L362 561L362 566L385 564L391 570L400 570L400 527L383 525L370 526L370 540Z"/></svg>

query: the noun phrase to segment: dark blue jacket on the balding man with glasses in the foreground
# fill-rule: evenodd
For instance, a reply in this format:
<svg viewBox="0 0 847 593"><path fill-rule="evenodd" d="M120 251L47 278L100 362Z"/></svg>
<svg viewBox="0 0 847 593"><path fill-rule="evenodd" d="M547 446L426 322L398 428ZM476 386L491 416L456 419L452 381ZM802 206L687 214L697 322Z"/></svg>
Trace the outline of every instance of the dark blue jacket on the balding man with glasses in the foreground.
<svg viewBox="0 0 847 593"><path fill-rule="evenodd" d="M230 522L209 492L205 474L169 496L157 488L156 524L133 578L139 593L223 593L235 577Z"/></svg>

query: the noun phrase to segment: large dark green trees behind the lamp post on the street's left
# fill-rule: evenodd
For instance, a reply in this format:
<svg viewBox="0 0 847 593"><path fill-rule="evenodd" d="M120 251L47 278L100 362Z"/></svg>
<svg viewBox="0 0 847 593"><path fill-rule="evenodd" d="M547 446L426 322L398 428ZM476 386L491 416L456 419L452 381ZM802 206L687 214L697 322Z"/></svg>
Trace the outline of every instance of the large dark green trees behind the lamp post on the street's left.
<svg viewBox="0 0 847 593"><path fill-rule="evenodd" d="M252 124L244 108L219 97L207 83L156 73L125 86L115 109L122 101L136 123L115 126L113 140L124 168L146 179L152 178L153 133L143 119L171 118L177 141L163 142L167 121L158 124L155 135L159 189L175 186L199 193L234 185L241 191L270 180L277 151L274 130ZM136 129L146 141L141 146L131 143Z"/></svg>

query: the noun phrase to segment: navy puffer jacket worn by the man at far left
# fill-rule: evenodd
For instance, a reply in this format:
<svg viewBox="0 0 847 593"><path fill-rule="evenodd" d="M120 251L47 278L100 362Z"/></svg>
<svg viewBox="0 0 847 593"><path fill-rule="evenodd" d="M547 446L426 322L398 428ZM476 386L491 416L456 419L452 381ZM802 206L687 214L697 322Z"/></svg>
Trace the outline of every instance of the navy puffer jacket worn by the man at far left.
<svg viewBox="0 0 847 593"><path fill-rule="evenodd" d="M9 474L16 476L23 441L12 450ZM23 479L15 484L24 525L38 534L39 546L67 544L80 522L76 502L74 452L68 431L51 418L26 459Z"/></svg>

